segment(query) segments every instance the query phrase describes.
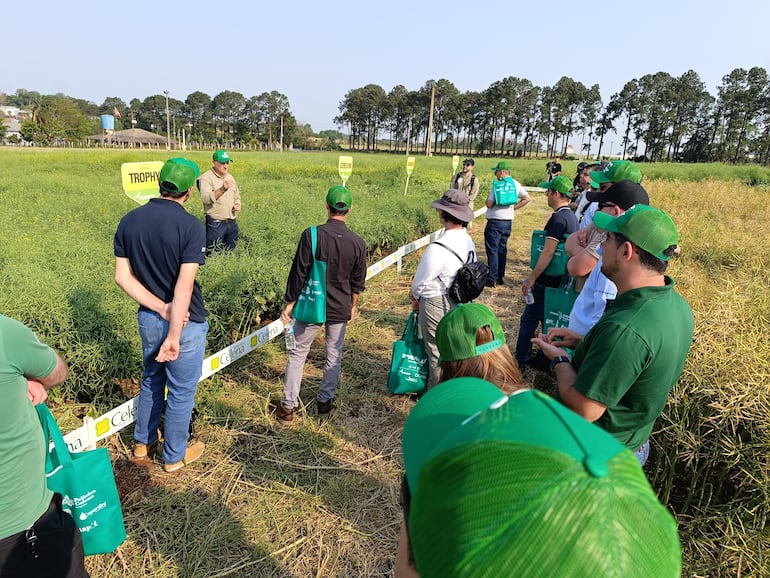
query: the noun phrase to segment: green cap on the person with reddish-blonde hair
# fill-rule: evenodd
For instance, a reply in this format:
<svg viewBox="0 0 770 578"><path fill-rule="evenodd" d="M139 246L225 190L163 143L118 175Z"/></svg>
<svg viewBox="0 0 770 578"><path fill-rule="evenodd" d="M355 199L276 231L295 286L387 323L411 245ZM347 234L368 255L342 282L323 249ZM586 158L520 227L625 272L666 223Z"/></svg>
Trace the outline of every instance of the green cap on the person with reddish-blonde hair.
<svg viewBox="0 0 770 578"><path fill-rule="evenodd" d="M476 345L476 333L489 327L492 341ZM441 361L470 359L505 345L505 333L492 310L481 303L460 303L444 315L436 327L436 346Z"/></svg>

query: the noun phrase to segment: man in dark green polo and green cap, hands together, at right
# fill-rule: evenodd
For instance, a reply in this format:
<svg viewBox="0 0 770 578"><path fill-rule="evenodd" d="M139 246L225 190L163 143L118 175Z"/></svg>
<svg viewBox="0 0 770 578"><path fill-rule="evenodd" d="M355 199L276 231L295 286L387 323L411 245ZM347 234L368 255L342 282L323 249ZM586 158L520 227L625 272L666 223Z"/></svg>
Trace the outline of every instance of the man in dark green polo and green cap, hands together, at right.
<svg viewBox="0 0 770 578"><path fill-rule="evenodd" d="M692 310L665 275L679 234L668 215L647 205L618 217L596 213L594 223L607 231L602 273L617 285L617 298L584 337L557 328L532 342L551 360L562 403L644 464L693 337ZM563 347L575 350L571 360Z"/></svg>

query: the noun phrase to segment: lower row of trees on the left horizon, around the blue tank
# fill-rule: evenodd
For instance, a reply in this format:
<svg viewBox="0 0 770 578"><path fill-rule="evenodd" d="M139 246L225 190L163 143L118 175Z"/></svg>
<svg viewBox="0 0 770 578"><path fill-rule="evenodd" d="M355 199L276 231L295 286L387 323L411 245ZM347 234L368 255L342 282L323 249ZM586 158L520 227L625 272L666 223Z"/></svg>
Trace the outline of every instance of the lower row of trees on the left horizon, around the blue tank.
<svg viewBox="0 0 770 578"><path fill-rule="evenodd" d="M4 96L4 98L3 98ZM100 115L115 118L115 130L141 128L160 135L168 128L174 141L194 144L218 143L222 146L258 145L328 146L341 135L336 131L313 133L310 125L297 123L289 108L289 99L277 91L263 92L247 98L239 92L223 91L213 98L196 91L182 101L165 94L132 99L126 103L118 97L107 97L101 105L64 94L41 95L18 89L11 95L0 95L8 106L31 111L21 123L25 141L52 146L84 140L102 131Z"/></svg>

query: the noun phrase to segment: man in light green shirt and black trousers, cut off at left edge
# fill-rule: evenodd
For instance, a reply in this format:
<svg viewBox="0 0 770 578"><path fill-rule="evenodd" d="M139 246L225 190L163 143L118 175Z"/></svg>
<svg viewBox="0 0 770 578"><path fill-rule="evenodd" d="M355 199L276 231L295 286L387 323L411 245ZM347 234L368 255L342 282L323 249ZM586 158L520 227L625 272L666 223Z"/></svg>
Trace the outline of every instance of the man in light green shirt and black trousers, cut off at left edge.
<svg viewBox="0 0 770 578"><path fill-rule="evenodd" d="M0 315L0 575L87 577L80 530L46 486L35 411L67 377L57 353Z"/></svg>

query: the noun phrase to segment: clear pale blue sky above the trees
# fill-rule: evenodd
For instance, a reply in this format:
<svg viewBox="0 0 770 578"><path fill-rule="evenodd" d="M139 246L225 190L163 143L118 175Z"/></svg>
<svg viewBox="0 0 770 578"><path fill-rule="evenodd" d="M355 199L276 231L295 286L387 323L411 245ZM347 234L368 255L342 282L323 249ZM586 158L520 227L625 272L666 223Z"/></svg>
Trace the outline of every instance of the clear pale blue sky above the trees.
<svg viewBox="0 0 770 578"><path fill-rule="evenodd" d="M623 6L621 8L621 6ZM633 78L692 69L716 96L735 68L770 70L761 0L432 2L42 0L3 15L0 91L101 104L168 90L277 90L313 130L336 128L345 93L446 78L482 91L506 76L570 76L606 102Z"/></svg>

